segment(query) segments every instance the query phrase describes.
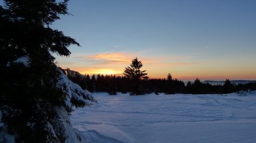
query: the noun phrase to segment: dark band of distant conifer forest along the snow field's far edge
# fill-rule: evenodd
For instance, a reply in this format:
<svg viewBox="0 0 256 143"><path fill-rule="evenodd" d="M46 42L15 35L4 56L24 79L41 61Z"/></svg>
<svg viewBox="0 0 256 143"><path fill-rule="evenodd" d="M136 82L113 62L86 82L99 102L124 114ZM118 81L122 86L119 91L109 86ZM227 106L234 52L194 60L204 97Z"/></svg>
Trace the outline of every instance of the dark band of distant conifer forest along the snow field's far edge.
<svg viewBox="0 0 256 143"><path fill-rule="evenodd" d="M89 90L89 92L108 92L109 94L131 93L134 95L148 94L148 93L166 93L166 94L227 94L239 92L242 90L256 90L256 83L237 84L230 83L227 79L224 85L211 85L202 83L199 79L188 83L184 81L173 79L168 73L167 78L153 79L148 78L141 80L139 85L135 84L132 79L123 75L81 75L79 72L69 69L64 70L69 79L81 86L82 89ZM135 92L133 93L135 89ZM137 91L136 91L137 90ZM138 92L139 91L139 92ZM136 93L138 92L138 94Z"/></svg>

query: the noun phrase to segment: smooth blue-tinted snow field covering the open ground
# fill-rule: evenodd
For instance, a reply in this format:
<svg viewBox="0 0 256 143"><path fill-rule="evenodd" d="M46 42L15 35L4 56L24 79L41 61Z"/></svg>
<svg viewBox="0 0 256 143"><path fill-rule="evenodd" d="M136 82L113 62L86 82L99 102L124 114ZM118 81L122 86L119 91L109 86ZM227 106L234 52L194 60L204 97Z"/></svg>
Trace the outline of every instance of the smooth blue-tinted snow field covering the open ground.
<svg viewBox="0 0 256 143"><path fill-rule="evenodd" d="M93 96L71 116L86 142L256 142L256 92Z"/></svg>

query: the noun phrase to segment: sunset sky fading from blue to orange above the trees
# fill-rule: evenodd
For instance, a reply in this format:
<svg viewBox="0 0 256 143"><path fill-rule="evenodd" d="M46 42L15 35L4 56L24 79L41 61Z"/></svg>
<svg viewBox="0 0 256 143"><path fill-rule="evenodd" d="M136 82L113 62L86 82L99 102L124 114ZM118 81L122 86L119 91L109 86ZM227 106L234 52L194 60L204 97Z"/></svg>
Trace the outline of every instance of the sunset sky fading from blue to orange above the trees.
<svg viewBox="0 0 256 143"><path fill-rule="evenodd" d="M122 73L142 60L150 77L256 80L256 1L84 1L51 27L73 37L63 68Z"/></svg>

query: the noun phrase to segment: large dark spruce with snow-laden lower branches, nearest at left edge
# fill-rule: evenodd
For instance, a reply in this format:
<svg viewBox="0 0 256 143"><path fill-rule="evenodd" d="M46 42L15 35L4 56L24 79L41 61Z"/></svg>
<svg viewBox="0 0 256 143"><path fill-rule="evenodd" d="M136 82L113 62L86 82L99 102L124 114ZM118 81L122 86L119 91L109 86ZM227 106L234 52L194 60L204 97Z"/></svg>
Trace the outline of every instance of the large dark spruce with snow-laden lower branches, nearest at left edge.
<svg viewBox="0 0 256 143"><path fill-rule="evenodd" d="M9 133L16 142L66 142L71 139L71 128L69 133L66 129L71 125L72 106L86 106L86 99L94 101L68 81L51 55L68 57L69 45L80 46L49 27L60 15L68 14L68 1L4 2L0 6L0 135ZM0 142L7 140L0 136Z"/></svg>

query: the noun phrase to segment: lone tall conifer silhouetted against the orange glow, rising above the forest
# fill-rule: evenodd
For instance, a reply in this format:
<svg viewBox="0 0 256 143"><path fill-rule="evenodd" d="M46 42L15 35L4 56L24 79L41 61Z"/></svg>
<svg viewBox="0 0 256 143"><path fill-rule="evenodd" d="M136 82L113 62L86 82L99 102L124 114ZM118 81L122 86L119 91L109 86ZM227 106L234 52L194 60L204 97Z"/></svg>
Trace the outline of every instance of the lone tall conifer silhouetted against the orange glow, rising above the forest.
<svg viewBox="0 0 256 143"><path fill-rule="evenodd" d="M130 80L131 95L142 95L146 93L146 90L142 87L141 81L147 80L148 76L146 71L141 71L143 66L142 62L135 58L132 60L130 67L126 67L123 74Z"/></svg>

